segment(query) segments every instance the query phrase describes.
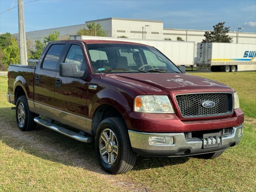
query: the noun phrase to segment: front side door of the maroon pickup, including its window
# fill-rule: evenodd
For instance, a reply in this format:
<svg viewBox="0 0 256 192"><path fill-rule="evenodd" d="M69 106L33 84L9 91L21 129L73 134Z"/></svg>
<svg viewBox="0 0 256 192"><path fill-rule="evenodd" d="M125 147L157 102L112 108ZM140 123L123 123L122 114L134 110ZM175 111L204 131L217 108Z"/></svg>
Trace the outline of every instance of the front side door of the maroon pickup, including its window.
<svg viewBox="0 0 256 192"><path fill-rule="evenodd" d="M78 70L87 70L85 54L80 44L70 44L63 63L78 64ZM56 74L55 115L58 121L86 132L87 86L85 78L61 77Z"/></svg>

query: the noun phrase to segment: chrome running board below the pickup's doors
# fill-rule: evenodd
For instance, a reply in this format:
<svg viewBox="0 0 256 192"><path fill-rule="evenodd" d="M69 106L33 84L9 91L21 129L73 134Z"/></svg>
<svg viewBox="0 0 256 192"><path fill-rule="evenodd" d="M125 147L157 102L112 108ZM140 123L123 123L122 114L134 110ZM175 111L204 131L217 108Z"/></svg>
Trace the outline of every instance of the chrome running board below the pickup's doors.
<svg viewBox="0 0 256 192"><path fill-rule="evenodd" d="M83 135L80 135L79 133L76 133L74 131L71 131L71 130L68 130L64 127L60 127L56 124L53 124L53 123L50 123L50 122L47 122L43 119L41 119L40 117L35 117L34 118L34 122L42 125L42 126L45 126L51 130L54 130L58 133L61 133L63 135L66 135L70 138L73 138L75 140L78 140L78 141L81 141L81 142L84 142L84 143L90 143L92 142L92 138L91 137L86 137L86 136L83 136Z"/></svg>

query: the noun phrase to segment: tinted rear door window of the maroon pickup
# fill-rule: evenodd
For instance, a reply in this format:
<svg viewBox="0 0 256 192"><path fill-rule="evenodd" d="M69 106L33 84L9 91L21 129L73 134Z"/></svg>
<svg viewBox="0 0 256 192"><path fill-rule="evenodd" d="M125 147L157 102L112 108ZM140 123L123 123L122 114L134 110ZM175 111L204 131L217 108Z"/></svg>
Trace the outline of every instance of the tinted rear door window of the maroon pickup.
<svg viewBox="0 0 256 192"><path fill-rule="evenodd" d="M52 45L48 50L42 68L55 70L65 44Z"/></svg>

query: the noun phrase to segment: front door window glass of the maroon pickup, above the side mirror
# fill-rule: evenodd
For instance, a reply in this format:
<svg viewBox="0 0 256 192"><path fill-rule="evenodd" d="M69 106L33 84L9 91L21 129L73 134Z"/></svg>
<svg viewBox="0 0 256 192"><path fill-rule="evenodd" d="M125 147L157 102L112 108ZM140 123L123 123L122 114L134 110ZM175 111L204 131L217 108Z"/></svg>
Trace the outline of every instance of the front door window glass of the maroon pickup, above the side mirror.
<svg viewBox="0 0 256 192"><path fill-rule="evenodd" d="M77 64L78 70L81 69L81 66L85 66L84 55L80 46L72 45L70 47L64 63Z"/></svg>

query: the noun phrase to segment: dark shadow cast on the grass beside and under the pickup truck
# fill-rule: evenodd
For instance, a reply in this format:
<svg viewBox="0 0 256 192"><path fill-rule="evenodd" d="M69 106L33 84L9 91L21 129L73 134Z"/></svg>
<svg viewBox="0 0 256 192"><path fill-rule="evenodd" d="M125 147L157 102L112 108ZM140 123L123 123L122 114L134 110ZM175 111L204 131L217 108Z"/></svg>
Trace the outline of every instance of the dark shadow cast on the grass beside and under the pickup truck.
<svg viewBox="0 0 256 192"><path fill-rule="evenodd" d="M94 144L84 144L72 138L54 132L48 128L37 125L35 130L22 132L16 126L14 110L1 108L2 113L8 113L9 118L0 118L0 140L13 148L68 166L81 167L100 174L107 174L102 170L94 152ZM188 157L176 158L149 158L138 156L134 170L158 168L182 164L188 161Z"/></svg>

